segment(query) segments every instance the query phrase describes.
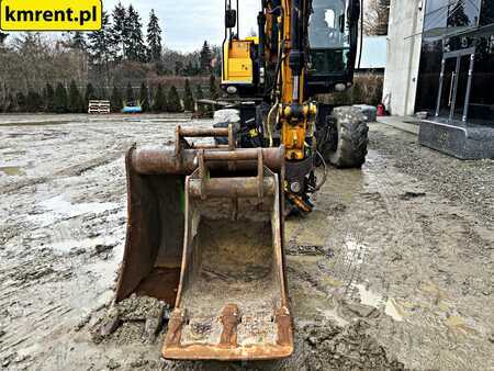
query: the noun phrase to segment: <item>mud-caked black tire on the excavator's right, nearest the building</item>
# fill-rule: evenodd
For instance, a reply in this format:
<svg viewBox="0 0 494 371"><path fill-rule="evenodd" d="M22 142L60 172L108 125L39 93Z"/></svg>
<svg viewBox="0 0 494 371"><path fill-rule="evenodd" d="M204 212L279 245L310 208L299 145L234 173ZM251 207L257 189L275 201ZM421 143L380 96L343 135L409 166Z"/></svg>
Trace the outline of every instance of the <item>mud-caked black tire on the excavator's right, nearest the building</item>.
<svg viewBox="0 0 494 371"><path fill-rule="evenodd" d="M334 145L326 150L326 160L338 168L361 168L366 164L369 126L366 116L356 108L339 106L332 113Z"/></svg>

